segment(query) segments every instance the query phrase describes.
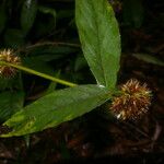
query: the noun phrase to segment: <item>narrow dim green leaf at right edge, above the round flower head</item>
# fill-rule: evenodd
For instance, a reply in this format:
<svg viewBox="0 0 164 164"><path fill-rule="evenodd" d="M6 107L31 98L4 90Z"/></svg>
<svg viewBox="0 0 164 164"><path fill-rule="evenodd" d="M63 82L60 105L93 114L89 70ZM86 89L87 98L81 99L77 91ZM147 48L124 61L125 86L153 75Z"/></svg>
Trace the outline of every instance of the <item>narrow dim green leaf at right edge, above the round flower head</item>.
<svg viewBox="0 0 164 164"><path fill-rule="evenodd" d="M164 61L161 61L160 59L148 54L133 54L132 56L149 63L164 66Z"/></svg>

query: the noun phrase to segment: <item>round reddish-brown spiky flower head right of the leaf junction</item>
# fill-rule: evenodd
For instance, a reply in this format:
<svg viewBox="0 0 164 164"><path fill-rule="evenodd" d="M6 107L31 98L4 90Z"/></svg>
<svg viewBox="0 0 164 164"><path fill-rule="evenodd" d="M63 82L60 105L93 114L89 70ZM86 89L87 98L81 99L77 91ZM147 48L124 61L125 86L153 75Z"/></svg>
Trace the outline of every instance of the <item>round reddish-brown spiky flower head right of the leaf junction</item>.
<svg viewBox="0 0 164 164"><path fill-rule="evenodd" d="M120 86L121 94L114 97L110 109L117 118L136 119L148 112L151 105L151 91L138 80L129 80Z"/></svg>

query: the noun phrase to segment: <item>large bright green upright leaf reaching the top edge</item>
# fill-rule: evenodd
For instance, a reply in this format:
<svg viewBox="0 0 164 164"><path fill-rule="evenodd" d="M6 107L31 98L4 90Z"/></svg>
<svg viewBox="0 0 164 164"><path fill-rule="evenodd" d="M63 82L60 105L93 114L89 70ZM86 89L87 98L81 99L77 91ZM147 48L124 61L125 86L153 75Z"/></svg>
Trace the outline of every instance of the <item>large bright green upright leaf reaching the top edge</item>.
<svg viewBox="0 0 164 164"><path fill-rule="evenodd" d="M83 54L97 83L114 89L120 57L120 36L107 0L75 0L75 20Z"/></svg>

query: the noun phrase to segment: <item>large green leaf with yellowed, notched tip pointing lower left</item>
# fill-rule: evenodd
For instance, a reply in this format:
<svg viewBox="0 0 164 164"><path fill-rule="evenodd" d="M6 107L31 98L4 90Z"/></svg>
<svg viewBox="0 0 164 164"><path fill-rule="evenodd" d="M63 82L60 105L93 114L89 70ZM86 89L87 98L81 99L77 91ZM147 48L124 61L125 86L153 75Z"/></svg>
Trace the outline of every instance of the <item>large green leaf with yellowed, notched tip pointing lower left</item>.
<svg viewBox="0 0 164 164"><path fill-rule="evenodd" d="M4 125L13 130L1 137L23 136L56 127L89 113L109 97L108 91L97 85L80 85L55 91L7 120Z"/></svg>

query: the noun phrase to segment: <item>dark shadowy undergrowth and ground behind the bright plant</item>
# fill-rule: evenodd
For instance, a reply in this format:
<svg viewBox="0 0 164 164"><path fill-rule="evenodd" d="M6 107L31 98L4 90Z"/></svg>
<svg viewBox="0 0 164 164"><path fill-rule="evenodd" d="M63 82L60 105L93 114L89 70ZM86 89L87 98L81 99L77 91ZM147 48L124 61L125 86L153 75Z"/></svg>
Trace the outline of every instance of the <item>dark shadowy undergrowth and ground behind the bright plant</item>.
<svg viewBox="0 0 164 164"><path fill-rule="evenodd" d="M95 109L58 128L34 133L30 142L24 137L0 139L0 164L164 162L164 1L109 2L121 35L118 84L131 78L145 82L153 93L148 114L121 121ZM73 0L38 0L30 13L25 0L0 3L1 49L14 49L32 69L52 75L56 72L79 84L94 83L80 48ZM23 21L26 14L31 16L27 24ZM16 78L0 81L1 92L19 90ZM49 85L49 81L26 73L22 73L21 82L25 105L40 97ZM1 116L1 122L3 119Z"/></svg>

